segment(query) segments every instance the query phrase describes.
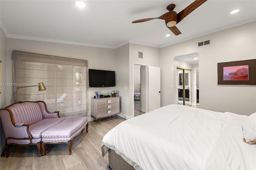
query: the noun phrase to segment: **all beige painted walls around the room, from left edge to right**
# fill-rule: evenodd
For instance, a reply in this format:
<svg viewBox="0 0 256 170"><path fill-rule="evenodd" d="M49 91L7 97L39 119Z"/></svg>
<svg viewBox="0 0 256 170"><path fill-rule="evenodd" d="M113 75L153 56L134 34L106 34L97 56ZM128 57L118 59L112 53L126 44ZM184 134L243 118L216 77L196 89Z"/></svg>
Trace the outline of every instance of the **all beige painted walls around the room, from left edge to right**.
<svg viewBox="0 0 256 170"><path fill-rule="evenodd" d="M61 43L38 42L6 38L0 32L0 60L3 61L2 83L13 83L12 51L28 51L47 55L56 55L77 59L87 59L88 68L116 71L116 87L88 88L88 118L90 103L94 91L109 93L118 91L121 98L120 116L129 119L133 113L133 63L161 67L161 106L175 104L176 72L174 56L199 53L200 108L220 112L233 112L250 115L256 112L256 86L220 86L217 85L217 63L256 59L256 22L216 32L186 42L163 48L148 47L129 43L117 49L86 47ZM197 47L197 43L211 39L211 45ZM144 59L138 59L138 51L144 53ZM173 88L170 88L170 85ZM124 89L127 87L127 89ZM14 102L14 88L2 87L0 107ZM2 128L1 128L2 130ZM1 146L3 135L1 131Z"/></svg>

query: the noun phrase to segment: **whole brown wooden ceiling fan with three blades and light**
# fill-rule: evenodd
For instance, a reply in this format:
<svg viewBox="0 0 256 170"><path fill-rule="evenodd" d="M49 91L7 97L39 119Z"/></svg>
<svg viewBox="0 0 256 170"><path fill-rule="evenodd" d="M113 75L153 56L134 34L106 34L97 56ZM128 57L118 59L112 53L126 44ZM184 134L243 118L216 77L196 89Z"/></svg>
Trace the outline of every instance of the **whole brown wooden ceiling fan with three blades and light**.
<svg viewBox="0 0 256 170"><path fill-rule="evenodd" d="M188 14L190 14L192 11L194 11L196 8L198 8L200 5L202 5L206 1L207 0L195 0L194 2L192 2L192 4L187 6L184 10L180 11L178 14L177 14L177 12L173 11L174 8L176 7L176 5L175 4L170 4L166 7L166 9L169 12L166 12L165 14L161 15L160 17L158 17L158 18L145 18L145 19L133 21L132 23L145 22L145 21L150 21L150 20L154 20L154 19L165 20L166 26L176 36L178 36L179 34L181 34L181 32L180 32L180 30L178 30L178 28L175 25L178 24Z"/></svg>

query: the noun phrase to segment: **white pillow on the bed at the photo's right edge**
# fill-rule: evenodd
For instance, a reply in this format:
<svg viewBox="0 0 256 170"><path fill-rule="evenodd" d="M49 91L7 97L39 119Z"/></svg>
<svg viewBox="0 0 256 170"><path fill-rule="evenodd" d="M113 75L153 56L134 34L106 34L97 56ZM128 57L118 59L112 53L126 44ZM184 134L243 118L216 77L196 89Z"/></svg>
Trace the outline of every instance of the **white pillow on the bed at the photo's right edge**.
<svg viewBox="0 0 256 170"><path fill-rule="evenodd" d="M242 128L244 132L244 142L248 144L256 143L256 112L247 117Z"/></svg>

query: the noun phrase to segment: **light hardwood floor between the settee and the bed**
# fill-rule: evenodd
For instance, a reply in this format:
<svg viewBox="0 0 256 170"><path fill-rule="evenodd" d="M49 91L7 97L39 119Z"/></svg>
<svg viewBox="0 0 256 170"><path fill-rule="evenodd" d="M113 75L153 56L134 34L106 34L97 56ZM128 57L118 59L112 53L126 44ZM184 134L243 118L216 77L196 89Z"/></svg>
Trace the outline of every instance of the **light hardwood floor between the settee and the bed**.
<svg viewBox="0 0 256 170"><path fill-rule="evenodd" d="M0 170L110 170L108 153L102 158L101 141L113 127L124 121L116 116L100 119L100 124L89 122L86 130L68 144L46 144L46 155L38 156L36 145L10 146L9 157L0 158ZM2 154L2 153L1 153Z"/></svg>

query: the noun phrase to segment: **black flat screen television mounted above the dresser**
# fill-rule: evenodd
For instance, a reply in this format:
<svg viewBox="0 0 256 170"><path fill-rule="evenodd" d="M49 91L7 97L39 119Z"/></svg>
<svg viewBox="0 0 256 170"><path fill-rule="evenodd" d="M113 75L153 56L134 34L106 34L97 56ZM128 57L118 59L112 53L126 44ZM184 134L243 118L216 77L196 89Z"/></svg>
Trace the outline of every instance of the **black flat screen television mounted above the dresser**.
<svg viewBox="0 0 256 170"><path fill-rule="evenodd" d="M115 71L89 69L89 87L116 86Z"/></svg>

